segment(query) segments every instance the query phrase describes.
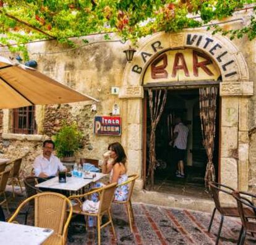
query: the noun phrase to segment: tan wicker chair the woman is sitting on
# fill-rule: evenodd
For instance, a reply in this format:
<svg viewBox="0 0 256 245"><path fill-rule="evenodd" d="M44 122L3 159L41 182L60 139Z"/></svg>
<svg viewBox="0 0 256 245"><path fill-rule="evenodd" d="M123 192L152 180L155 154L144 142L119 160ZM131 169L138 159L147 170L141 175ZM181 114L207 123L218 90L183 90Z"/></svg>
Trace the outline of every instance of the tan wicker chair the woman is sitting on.
<svg viewBox="0 0 256 245"><path fill-rule="evenodd" d="M132 210L132 201L131 201L131 197L132 197L132 191L134 189L134 183L135 180L137 180L137 178L139 178L139 175L129 175L128 176L128 180L124 183L122 183L121 185L117 185L116 188L118 188L119 186L123 186L123 185L129 185L129 193L128 193L128 197L126 201L113 201L114 203L117 204L124 204L127 207L127 214L128 214L128 218L129 218L129 224L130 224L130 231L133 233L132 230L132 223L134 223L134 212Z"/></svg>

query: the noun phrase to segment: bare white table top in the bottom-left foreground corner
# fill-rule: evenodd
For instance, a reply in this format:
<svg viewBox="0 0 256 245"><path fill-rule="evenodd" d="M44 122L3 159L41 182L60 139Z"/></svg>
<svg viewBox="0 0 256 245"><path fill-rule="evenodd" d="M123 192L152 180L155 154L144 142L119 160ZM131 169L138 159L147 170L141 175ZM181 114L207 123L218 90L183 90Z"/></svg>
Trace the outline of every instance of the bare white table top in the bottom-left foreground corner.
<svg viewBox="0 0 256 245"><path fill-rule="evenodd" d="M51 229L0 222L0 244L4 245L40 245L52 234Z"/></svg>

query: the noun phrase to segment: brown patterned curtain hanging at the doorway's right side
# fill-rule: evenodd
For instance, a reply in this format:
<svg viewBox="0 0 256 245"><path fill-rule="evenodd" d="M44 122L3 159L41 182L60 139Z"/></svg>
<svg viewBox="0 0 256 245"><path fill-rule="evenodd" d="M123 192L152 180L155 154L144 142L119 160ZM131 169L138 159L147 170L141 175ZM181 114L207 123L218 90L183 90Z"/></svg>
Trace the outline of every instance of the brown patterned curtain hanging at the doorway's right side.
<svg viewBox="0 0 256 245"><path fill-rule="evenodd" d="M200 94L200 118L203 135L203 146L207 151L208 163L205 172L205 185L208 181L215 181L215 167L213 165L213 150L215 141L215 119L216 119L216 99L218 88L208 86L199 89Z"/></svg>

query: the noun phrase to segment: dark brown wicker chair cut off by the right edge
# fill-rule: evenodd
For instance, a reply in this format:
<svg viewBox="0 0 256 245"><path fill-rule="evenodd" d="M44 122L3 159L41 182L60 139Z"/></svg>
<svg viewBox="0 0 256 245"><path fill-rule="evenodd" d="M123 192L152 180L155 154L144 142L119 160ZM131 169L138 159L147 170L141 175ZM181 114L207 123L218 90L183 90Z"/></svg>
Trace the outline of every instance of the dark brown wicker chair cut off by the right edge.
<svg viewBox="0 0 256 245"><path fill-rule="evenodd" d="M252 233L256 233L256 223L255 220L252 222L248 219L245 210L250 209L252 212L256 214L256 206L248 199L248 198L256 198L254 194L245 193L243 191L233 191L233 197L236 199L237 202L237 209L239 211L239 215L242 222L242 228L240 231L239 239L237 244L242 245L245 241L245 236L247 231ZM242 196L241 196L242 195Z"/></svg>

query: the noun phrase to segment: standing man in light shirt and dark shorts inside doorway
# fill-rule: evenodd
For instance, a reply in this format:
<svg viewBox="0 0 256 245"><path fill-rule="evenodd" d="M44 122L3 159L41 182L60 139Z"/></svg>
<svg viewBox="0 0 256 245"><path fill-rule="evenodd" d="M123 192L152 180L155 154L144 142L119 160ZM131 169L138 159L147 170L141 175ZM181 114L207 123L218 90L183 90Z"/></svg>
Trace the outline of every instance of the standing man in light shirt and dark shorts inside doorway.
<svg viewBox="0 0 256 245"><path fill-rule="evenodd" d="M175 159L178 161L178 168L176 171L176 176L178 178L185 178L184 174L184 158L186 156L186 149L187 149L187 136L189 135L189 128L182 123L181 117L177 117L176 126L174 128L174 135L173 139L169 145L173 144L175 149Z"/></svg>

